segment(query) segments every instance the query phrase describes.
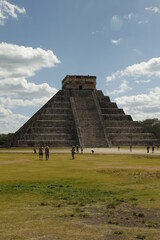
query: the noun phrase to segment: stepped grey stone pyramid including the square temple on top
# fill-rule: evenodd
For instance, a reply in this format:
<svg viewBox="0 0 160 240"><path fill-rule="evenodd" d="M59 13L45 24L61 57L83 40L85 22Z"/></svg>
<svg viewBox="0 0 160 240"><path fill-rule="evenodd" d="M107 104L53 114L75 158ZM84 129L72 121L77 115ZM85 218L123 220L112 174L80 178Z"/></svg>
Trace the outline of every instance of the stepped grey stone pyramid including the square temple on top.
<svg viewBox="0 0 160 240"><path fill-rule="evenodd" d="M62 89L13 136L12 146L156 145L157 139L96 89L95 76L67 75Z"/></svg>

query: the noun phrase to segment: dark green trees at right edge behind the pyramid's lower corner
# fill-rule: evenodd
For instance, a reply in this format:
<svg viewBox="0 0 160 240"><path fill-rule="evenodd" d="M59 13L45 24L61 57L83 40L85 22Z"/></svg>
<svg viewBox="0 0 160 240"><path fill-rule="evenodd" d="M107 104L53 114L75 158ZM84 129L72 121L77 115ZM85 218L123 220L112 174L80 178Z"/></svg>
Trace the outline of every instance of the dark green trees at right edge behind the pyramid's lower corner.
<svg viewBox="0 0 160 240"><path fill-rule="evenodd" d="M158 118L146 119L140 122L140 125L149 133L153 133L160 139L160 120Z"/></svg>

